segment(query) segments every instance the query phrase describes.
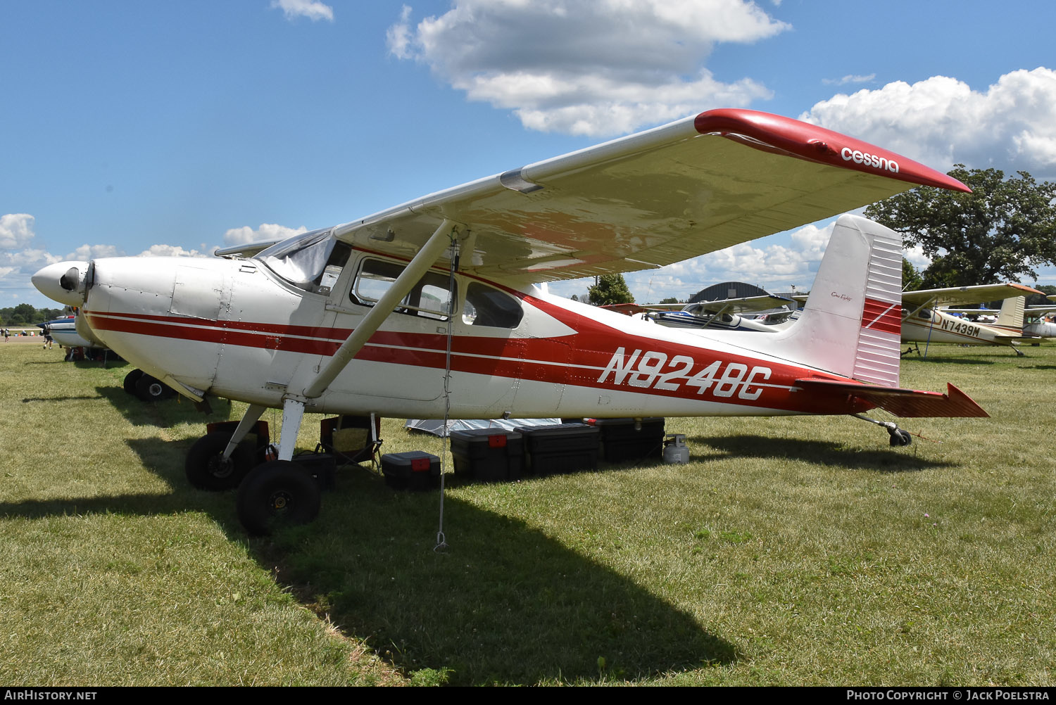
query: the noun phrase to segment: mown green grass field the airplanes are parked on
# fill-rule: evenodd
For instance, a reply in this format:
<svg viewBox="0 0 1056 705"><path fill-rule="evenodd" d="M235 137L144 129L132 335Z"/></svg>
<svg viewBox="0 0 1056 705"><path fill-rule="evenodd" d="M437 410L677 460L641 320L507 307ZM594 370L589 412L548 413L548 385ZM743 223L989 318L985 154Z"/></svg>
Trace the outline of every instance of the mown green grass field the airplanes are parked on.
<svg viewBox="0 0 1056 705"><path fill-rule="evenodd" d="M356 466L316 523L250 539L183 476L238 405L145 405L127 365L0 347L0 682L1052 684L1056 347L1024 350L903 362L993 417L903 424L938 442L668 419L686 465L452 482L434 551L437 493Z"/></svg>

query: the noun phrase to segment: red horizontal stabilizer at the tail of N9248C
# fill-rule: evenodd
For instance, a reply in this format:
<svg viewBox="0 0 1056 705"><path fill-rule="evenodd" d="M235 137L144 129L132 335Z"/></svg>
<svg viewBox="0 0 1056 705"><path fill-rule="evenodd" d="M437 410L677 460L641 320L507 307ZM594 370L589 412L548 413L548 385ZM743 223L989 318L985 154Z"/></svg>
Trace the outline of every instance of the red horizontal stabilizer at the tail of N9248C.
<svg viewBox="0 0 1056 705"><path fill-rule="evenodd" d="M973 401L972 397L948 382L946 383L946 394L817 379L796 380L795 384L813 394L828 393L855 397L900 417L964 418L989 416L982 406Z"/></svg>

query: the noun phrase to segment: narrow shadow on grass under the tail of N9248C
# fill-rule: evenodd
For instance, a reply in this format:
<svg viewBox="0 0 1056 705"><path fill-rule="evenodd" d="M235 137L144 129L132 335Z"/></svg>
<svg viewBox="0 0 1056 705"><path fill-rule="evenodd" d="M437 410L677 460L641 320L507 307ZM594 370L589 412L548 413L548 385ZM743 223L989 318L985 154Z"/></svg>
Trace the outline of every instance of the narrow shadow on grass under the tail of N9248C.
<svg viewBox="0 0 1056 705"><path fill-rule="evenodd" d="M914 438L917 442L919 439ZM755 435L695 436L695 443L713 449L716 453L696 460L723 460L727 458L784 458L803 460L821 465L874 470L884 473L906 473L934 468L951 468L956 463L928 460L906 451L860 451L832 441L797 440L785 437ZM910 452L911 453L911 452Z"/></svg>

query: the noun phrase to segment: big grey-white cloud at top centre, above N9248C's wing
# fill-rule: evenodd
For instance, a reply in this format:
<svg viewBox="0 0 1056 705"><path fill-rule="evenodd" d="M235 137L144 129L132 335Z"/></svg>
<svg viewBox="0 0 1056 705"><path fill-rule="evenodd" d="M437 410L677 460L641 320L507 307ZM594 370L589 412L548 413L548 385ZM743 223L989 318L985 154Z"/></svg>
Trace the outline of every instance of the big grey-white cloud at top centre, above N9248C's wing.
<svg viewBox="0 0 1056 705"><path fill-rule="evenodd" d="M703 64L717 42L787 28L744 0L457 0L414 26L404 6L386 39L397 58L428 64L529 129L602 136L771 97Z"/></svg>

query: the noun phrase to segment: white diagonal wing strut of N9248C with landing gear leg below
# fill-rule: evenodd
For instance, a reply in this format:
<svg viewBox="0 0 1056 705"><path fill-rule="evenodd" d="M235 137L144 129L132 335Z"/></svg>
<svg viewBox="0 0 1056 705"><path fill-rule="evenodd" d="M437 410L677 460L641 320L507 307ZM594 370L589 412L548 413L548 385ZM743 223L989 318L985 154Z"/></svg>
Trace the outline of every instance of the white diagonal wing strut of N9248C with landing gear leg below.
<svg viewBox="0 0 1056 705"><path fill-rule="evenodd" d="M384 323L393 309L403 301L418 280L426 271L433 266L437 258L446 247L451 244L457 224L454 221L444 218L440 226L429 237L414 259L400 272L392 286L381 294L374 307L363 317L362 322L350 334L348 338L337 348L329 362L326 363L316 376L315 380L304 388L301 395L287 394L283 398L282 406L282 433L279 437L279 460L289 460L294 457L294 446L297 443L297 432L301 426L301 418L304 415L304 404L309 399L315 399L326 390L341 370L344 369L356 355L363 349L363 345L371 336L377 332L381 324Z"/></svg>

